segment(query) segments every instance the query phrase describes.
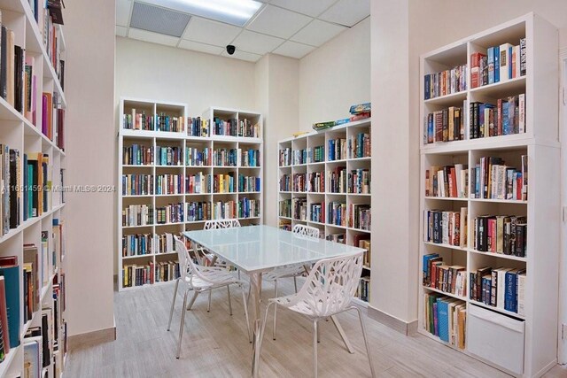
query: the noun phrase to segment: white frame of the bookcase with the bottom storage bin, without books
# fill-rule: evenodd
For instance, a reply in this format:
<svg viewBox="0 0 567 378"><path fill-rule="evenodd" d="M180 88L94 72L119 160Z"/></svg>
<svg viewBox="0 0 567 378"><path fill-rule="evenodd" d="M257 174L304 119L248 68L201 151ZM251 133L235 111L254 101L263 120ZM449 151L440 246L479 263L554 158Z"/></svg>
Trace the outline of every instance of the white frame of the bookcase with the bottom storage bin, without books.
<svg viewBox="0 0 567 378"><path fill-rule="evenodd" d="M457 297L466 305L465 348L462 351L515 376L540 376L555 365L557 357L557 297L559 262L559 151L557 120L557 30L539 16L529 13L477 35L424 54L420 59L420 120L448 106L464 105L464 140L421 144L421 230L423 212L459 211L467 208L468 240L464 246L425 242L419 253L419 331L440 343L424 326L424 294ZM517 45L526 38L526 74L508 81L470 88L446 96L424 100L423 77L453 66L470 67L470 56L488 47L509 42ZM475 101L496 104L506 96L525 94L526 131L516 135L470 139L470 104ZM463 103L464 102L464 103ZM419 126L423 129L423 123ZM425 171L431 166L464 164L476 166L480 157L501 157L507 166L519 168L526 155L529 166L527 200L425 197ZM470 172L470 171L469 171ZM469 177L469 185L471 178ZM468 193L470 194L471 188ZM474 219L480 215L527 216L525 257L481 252L474 249ZM447 266L465 266L467 295L458 297L423 286L423 256L439 253ZM509 312L470 298L470 273L481 266L524 268L527 270L524 315ZM480 313L480 318L478 317ZM479 320L480 319L480 320ZM454 345L446 343L453 348ZM482 347L478 347L478 345ZM457 349L457 348L455 348Z"/></svg>

